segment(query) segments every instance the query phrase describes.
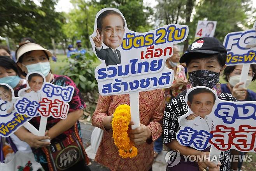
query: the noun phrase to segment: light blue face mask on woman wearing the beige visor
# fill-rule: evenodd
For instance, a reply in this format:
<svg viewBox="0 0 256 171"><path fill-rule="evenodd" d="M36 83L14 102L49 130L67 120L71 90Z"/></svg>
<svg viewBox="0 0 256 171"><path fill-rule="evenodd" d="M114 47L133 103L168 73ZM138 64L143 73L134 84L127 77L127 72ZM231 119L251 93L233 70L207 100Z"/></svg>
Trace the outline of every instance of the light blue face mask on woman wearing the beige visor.
<svg viewBox="0 0 256 171"><path fill-rule="evenodd" d="M50 62L39 62L31 65L25 65L25 67L28 69L28 73L37 71L44 74L45 77L51 70Z"/></svg>

